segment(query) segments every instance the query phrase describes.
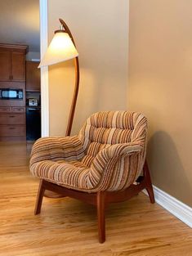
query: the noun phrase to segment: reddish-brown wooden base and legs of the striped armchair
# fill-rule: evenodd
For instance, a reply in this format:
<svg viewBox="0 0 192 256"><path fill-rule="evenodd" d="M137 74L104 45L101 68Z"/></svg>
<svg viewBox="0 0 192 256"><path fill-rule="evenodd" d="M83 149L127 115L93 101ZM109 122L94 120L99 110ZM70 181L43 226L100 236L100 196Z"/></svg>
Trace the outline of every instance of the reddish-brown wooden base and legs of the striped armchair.
<svg viewBox="0 0 192 256"><path fill-rule="evenodd" d="M137 179L136 185L131 185L127 187L124 191L98 191L96 193L87 193L81 191L75 191L64 186L58 186L54 183L47 182L46 180L41 179L38 188L37 202L35 205L34 214L39 214L42 208L42 198L44 192L53 191L63 196L69 196L74 199L82 200L88 204L96 205L97 209L97 218L98 218L98 235L100 243L105 242L105 208L109 203L121 202L129 200L132 196L137 195L140 191L146 189L150 196L150 202L154 204L154 191L150 179L150 171L148 164L145 161L143 168L143 176L140 176Z"/></svg>

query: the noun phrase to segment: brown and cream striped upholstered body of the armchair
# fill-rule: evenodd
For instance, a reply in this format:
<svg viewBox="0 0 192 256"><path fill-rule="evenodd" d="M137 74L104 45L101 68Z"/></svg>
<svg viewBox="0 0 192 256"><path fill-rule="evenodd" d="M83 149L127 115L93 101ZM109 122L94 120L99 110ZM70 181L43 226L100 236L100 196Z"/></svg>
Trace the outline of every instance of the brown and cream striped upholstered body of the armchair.
<svg viewBox="0 0 192 256"><path fill-rule="evenodd" d="M140 175L147 121L135 112L92 115L78 136L46 137L33 145L30 171L78 191L119 191Z"/></svg>

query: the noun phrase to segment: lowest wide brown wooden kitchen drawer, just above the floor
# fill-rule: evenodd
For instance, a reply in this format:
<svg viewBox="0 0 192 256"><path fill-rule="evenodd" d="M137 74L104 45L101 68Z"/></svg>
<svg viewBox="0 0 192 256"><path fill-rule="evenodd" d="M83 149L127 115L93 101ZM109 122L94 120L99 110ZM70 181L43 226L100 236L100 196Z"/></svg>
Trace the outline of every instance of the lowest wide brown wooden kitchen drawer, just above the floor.
<svg viewBox="0 0 192 256"><path fill-rule="evenodd" d="M25 136L24 125L0 125L0 137Z"/></svg>

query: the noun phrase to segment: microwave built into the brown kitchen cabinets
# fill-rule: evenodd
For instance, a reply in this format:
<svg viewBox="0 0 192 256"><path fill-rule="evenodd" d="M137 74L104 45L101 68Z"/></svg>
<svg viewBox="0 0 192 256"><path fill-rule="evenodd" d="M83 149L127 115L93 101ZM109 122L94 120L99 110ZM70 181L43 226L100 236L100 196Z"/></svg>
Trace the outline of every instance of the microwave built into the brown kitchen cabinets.
<svg viewBox="0 0 192 256"><path fill-rule="evenodd" d="M23 100L22 89L0 88L0 100Z"/></svg>

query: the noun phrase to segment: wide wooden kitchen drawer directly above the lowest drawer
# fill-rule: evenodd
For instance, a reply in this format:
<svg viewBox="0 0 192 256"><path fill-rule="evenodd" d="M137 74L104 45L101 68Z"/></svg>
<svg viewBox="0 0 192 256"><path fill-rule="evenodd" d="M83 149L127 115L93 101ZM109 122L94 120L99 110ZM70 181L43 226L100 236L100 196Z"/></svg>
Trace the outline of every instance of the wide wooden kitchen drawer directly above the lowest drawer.
<svg viewBox="0 0 192 256"><path fill-rule="evenodd" d="M25 114L1 114L0 124L25 124Z"/></svg>

